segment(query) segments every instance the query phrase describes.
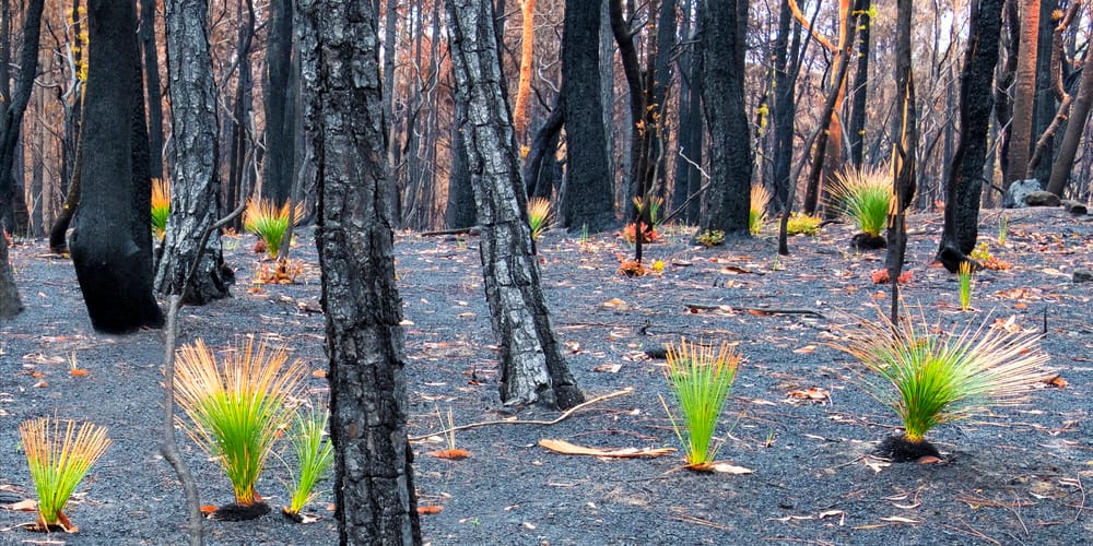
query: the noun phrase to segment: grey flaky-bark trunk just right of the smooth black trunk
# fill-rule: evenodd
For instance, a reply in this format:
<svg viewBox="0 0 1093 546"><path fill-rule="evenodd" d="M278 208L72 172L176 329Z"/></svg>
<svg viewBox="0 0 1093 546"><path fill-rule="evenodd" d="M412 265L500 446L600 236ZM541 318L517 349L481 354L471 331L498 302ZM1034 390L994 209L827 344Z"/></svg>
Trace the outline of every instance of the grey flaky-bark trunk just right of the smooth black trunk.
<svg viewBox="0 0 1093 546"><path fill-rule="evenodd" d="M161 294L184 295L184 304L203 305L227 297L231 271L224 265L220 234L211 234L201 261L185 285L198 257L201 235L216 222L216 91L205 21L208 0L166 0L167 59L171 79L171 218L163 239L163 259L155 273Z"/></svg>

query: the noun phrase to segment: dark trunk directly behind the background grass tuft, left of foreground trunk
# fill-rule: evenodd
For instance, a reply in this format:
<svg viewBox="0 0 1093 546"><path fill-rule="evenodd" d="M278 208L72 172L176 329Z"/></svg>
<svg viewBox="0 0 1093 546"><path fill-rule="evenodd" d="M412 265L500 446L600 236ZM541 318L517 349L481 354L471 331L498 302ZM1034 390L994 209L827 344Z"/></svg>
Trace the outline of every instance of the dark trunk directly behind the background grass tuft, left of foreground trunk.
<svg viewBox="0 0 1093 546"><path fill-rule="evenodd" d="M262 197L278 206L292 194L295 174L295 93L292 91L292 0L272 0L266 51L266 162Z"/></svg>

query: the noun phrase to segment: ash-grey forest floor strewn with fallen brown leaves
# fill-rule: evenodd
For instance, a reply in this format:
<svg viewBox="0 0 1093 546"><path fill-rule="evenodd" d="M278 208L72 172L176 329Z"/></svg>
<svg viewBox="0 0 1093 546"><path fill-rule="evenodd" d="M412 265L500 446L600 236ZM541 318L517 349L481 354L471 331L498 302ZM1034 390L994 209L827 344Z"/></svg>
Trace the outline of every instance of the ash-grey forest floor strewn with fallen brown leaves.
<svg viewBox="0 0 1093 546"><path fill-rule="evenodd" d="M776 258L768 236L714 249L690 233L666 229L646 247L660 274L618 273L631 247L614 235L580 241L560 232L540 244L544 289L569 367L587 397L632 389L569 414L515 411L497 395L495 340L483 297L475 237L400 234L397 272L404 302L415 487L431 544L1080 544L1093 536L1093 283L1071 281L1093 268L1093 218L1061 210L985 211L980 238L1012 263L976 275L974 312L961 312L956 281L931 266L941 230L937 214L916 215L904 286L913 311L954 330L1014 317L1045 328L1043 347L1063 387L1044 384L1030 404L996 408L943 425L928 436L935 464L890 463L872 451L898 432L886 407L860 388L858 366L831 344L877 317L890 287L874 285L883 251L847 250L846 225L790 240ZM319 272L309 230L294 256L302 283L248 293L258 263L249 236L225 239L237 269L235 297L184 308L183 342L223 347L244 334L279 336L312 370L309 390L326 393ZM92 331L68 260L43 241L13 248L27 309L0 323L0 544L183 544L183 492L158 455L163 334L109 336ZM692 312L689 305L704 307ZM749 308L753 310L749 310ZM764 311L768 309L771 311ZM775 309L809 309L815 314ZM678 448L659 400L670 401L663 360L646 356L680 336L738 344L744 356L721 420L720 460L748 474L682 470L679 452L618 459L567 455L543 439L601 448ZM70 357L86 369L70 373ZM1057 381L1063 384L1063 381ZM811 391L810 391L811 389ZM811 393L811 397L795 395ZM435 432L456 425L510 420L461 430L449 461ZM77 534L44 535L20 524L33 498L17 424L37 416L94 422L114 446L70 502ZM440 418L443 416L443 419ZM518 419L518 420L513 420ZM433 436L431 436L433 435ZM204 503L226 503L231 487L215 462L180 436ZM274 507L287 479L275 458L259 484ZM1090 490L1090 494L1086 490ZM1091 498L1086 498L1091 497ZM273 512L249 522L207 521L209 544L334 544L330 480L320 483L297 525Z"/></svg>

